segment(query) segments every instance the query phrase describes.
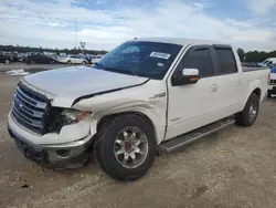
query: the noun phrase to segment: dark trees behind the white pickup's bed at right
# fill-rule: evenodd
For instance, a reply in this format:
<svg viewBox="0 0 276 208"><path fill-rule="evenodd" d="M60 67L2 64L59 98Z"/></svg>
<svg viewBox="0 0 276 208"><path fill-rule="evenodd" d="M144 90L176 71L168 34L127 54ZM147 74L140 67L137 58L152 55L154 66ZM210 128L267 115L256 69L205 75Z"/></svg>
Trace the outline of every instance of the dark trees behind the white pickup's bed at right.
<svg viewBox="0 0 276 208"><path fill-rule="evenodd" d="M262 62L268 58L276 58L276 51L248 51L244 52L243 49L236 50L242 62Z"/></svg>

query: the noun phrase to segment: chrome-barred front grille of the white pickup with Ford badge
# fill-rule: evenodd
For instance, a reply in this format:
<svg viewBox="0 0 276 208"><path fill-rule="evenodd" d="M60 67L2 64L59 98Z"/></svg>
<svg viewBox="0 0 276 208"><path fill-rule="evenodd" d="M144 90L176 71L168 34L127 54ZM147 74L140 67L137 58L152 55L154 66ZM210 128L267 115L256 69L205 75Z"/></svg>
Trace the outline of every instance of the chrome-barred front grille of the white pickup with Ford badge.
<svg viewBox="0 0 276 208"><path fill-rule="evenodd" d="M43 134L45 129L44 119L49 108L47 103L45 96L20 83L14 92L12 116L28 129Z"/></svg>

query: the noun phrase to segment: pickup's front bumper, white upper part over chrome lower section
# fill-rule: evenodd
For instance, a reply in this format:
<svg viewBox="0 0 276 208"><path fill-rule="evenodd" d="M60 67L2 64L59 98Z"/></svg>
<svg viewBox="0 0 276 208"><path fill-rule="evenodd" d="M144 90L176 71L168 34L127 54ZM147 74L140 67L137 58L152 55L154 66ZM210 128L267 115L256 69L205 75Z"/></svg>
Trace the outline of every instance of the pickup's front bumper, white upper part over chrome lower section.
<svg viewBox="0 0 276 208"><path fill-rule="evenodd" d="M23 155L40 165L50 167L67 166L68 164L85 162L92 154L89 152L93 141L92 135L68 143L34 144L32 142L33 137L38 137L38 141L40 135L21 127L12 118L11 114L8 117L8 132Z"/></svg>

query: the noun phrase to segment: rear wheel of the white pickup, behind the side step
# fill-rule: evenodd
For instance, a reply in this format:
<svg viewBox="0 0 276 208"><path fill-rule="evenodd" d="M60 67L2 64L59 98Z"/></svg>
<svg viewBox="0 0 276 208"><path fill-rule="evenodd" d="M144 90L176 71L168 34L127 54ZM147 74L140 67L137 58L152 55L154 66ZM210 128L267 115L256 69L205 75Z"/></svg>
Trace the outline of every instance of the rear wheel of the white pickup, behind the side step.
<svg viewBox="0 0 276 208"><path fill-rule="evenodd" d="M247 100L244 110L236 115L236 124L241 126L252 126L257 118L259 98L253 93Z"/></svg>

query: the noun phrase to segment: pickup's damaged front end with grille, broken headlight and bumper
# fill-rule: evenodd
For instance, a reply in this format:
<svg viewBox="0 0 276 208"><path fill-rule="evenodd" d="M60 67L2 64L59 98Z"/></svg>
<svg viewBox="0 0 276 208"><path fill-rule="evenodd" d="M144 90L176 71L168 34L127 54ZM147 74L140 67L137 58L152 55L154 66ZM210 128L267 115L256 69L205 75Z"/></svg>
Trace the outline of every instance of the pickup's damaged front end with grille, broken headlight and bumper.
<svg viewBox="0 0 276 208"><path fill-rule="evenodd" d="M40 165L87 160L95 126L92 112L51 106L46 96L22 83L15 89L8 131L24 156Z"/></svg>

